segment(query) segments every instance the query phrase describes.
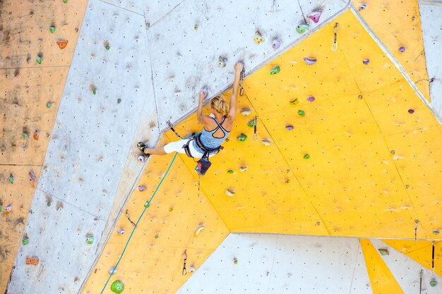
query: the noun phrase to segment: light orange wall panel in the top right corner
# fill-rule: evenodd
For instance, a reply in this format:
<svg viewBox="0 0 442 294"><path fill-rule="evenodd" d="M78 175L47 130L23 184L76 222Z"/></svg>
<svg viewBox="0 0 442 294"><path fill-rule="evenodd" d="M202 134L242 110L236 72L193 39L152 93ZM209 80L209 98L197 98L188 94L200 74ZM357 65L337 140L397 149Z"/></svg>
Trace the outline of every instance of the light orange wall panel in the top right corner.
<svg viewBox="0 0 442 294"><path fill-rule="evenodd" d="M362 3L366 4L366 9L359 10L359 13L381 42L398 59L426 99L430 99L417 0L355 0L353 2L358 9ZM400 52L400 47L405 47L405 51Z"/></svg>

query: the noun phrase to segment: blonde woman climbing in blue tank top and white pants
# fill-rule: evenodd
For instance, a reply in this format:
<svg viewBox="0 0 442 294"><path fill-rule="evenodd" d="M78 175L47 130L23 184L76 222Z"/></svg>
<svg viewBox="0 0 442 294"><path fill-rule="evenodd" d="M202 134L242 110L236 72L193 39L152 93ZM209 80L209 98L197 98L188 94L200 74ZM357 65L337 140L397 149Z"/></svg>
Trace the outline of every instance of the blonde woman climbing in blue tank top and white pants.
<svg viewBox="0 0 442 294"><path fill-rule="evenodd" d="M165 155L171 152L186 153L189 157L201 158L204 154L217 154L222 142L232 130L235 116L237 115L237 93L241 71L244 66L241 62L234 65L235 78L230 97L230 105L224 98L217 96L210 102L212 115L203 115L203 100L207 97L207 92L199 92L198 109L196 118L203 124L201 134L189 139L171 142L165 146L149 148L143 142L138 142L138 149L145 155Z"/></svg>

